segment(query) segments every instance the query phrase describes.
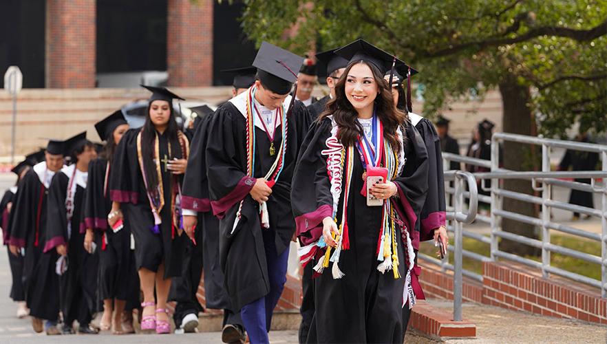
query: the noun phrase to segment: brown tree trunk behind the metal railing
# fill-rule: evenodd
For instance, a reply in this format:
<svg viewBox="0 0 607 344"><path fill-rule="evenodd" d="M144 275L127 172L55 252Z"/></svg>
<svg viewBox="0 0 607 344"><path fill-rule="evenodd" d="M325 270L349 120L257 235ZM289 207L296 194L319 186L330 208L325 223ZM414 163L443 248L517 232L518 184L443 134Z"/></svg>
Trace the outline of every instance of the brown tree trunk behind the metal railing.
<svg viewBox="0 0 607 344"><path fill-rule="evenodd" d="M504 107L502 118L504 132L531 135L535 126L533 125L533 114L529 107L529 101L531 100L529 87L518 85L515 76L510 76L500 84L500 93L502 94ZM535 147L531 147L529 144L504 142L501 157L504 169L533 171L533 166L536 165L532 158L535 156L532 153L533 149ZM533 195L529 180L504 180L503 187L509 191ZM520 202L504 197L502 204L504 211L511 211L529 217L537 216L535 206L528 202ZM502 218L502 230L525 237L537 238L535 226L511 219ZM515 255L537 255L535 248L507 239L502 239L500 242L500 250Z"/></svg>

